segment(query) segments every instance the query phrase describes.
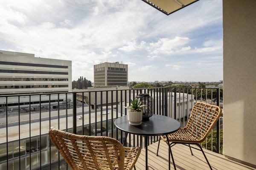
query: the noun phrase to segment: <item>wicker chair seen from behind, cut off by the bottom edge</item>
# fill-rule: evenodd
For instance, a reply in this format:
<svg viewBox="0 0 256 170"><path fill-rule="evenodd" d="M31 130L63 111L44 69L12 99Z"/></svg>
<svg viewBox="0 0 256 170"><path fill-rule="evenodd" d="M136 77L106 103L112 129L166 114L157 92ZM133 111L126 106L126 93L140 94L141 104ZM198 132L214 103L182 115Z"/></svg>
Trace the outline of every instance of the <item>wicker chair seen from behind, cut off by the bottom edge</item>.
<svg viewBox="0 0 256 170"><path fill-rule="evenodd" d="M49 137L73 170L131 170L140 147L123 147L107 136L85 136L49 130Z"/></svg>

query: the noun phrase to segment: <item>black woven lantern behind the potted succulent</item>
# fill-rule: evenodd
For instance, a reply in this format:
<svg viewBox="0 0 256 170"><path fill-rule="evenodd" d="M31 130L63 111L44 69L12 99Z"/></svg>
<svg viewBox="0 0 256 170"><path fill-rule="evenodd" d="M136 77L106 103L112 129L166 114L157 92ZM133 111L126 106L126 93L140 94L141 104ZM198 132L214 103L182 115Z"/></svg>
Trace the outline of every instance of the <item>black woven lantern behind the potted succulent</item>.
<svg viewBox="0 0 256 170"><path fill-rule="evenodd" d="M143 120L148 120L154 114L153 113L153 97L149 96L149 94L139 94L135 98L140 99L141 104L145 105L142 108Z"/></svg>

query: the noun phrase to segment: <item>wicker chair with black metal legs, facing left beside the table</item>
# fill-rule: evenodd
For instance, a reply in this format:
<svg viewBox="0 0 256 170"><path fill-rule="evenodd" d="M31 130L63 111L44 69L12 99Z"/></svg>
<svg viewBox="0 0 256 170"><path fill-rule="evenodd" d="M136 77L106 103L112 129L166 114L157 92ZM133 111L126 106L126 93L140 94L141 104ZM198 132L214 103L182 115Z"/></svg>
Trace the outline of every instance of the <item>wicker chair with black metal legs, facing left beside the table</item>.
<svg viewBox="0 0 256 170"><path fill-rule="evenodd" d="M201 150L210 169L212 170L209 161L204 154L204 150L202 149L200 143L203 142L207 135L211 132L212 127L214 127L215 123L221 116L221 108L215 105L209 105L206 103L198 102L194 105L192 112L189 116L188 123L186 127L180 128L175 133L171 133L168 135L168 139L166 136L161 136L161 139L169 145L169 153L172 156L171 147L175 144L184 144L189 146L191 151L191 155L193 155L191 148L196 150ZM159 149L160 140L157 147L157 156L158 156L158 149ZM190 144L197 145L200 149L190 146ZM170 156L169 155L169 156ZM172 156L172 162L174 169L175 162Z"/></svg>

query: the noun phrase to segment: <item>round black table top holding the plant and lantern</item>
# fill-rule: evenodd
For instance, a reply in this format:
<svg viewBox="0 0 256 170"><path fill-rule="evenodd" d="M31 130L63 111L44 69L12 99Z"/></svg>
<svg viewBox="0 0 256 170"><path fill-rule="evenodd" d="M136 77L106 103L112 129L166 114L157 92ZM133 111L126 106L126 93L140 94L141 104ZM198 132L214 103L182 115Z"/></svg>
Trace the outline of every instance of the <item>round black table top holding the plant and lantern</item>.
<svg viewBox="0 0 256 170"><path fill-rule="evenodd" d="M116 128L126 133L142 136L160 136L173 133L180 129L180 122L167 116L154 114L149 120L143 120L141 125L130 125L128 116L115 120Z"/></svg>

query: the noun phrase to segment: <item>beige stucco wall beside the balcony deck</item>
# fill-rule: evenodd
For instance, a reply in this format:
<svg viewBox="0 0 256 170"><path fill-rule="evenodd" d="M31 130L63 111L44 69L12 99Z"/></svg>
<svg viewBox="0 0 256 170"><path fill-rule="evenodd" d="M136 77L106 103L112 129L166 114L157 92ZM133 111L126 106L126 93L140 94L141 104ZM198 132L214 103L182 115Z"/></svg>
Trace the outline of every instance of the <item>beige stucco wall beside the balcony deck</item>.
<svg viewBox="0 0 256 170"><path fill-rule="evenodd" d="M223 0L224 150L256 165L256 0Z"/></svg>

